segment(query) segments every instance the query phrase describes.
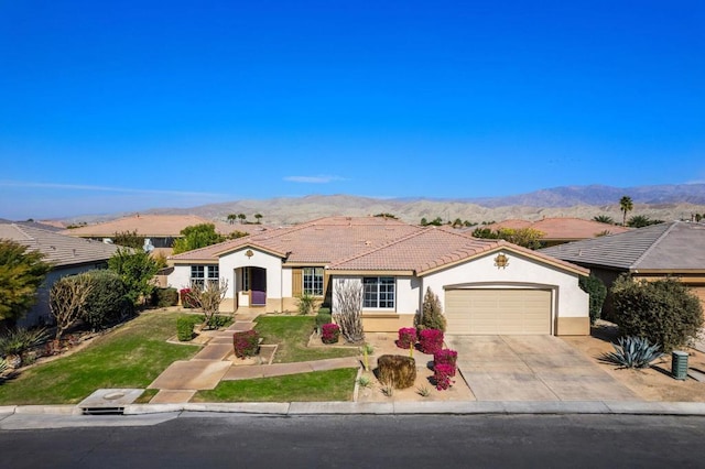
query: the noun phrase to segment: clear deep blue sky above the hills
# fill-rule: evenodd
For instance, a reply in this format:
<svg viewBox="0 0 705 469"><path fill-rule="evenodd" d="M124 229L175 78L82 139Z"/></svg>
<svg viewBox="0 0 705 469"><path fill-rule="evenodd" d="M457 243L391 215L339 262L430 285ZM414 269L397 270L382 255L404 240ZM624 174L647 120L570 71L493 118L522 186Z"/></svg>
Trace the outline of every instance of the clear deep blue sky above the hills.
<svg viewBox="0 0 705 469"><path fill-rule="evenodd" d="M705 181L705 2L0 0L0 217Z"/></svg>

